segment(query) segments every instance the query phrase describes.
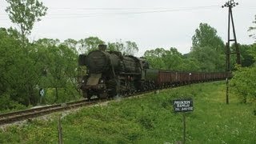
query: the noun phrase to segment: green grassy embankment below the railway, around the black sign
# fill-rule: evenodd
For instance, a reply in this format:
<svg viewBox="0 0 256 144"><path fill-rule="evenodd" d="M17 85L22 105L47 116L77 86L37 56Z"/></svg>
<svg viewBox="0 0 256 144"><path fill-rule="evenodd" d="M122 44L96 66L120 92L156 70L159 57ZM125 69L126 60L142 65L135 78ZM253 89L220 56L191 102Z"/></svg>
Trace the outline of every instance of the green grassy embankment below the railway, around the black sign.
<svg viewBox="0 0 256 144"><path fill-rule="evenodd" d="M254 143L256 116L252 104L241 104L225 82L182 86L141 98L82 108L62 118L65 143L164 143L182 141L182 114L174 114L174 98L192 97L186 114L187 143ZM58 114L0 130L0 143L57 143Z"/></svg>

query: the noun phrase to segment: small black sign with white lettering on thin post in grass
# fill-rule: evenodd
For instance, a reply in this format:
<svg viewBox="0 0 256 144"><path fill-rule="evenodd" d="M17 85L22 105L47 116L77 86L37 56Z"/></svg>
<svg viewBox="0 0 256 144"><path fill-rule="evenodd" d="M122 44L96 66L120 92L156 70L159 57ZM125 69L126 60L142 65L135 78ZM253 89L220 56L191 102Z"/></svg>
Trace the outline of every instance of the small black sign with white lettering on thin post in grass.
<svg viewBox="0 0 256 144"><path fill-rule="evenodd" d="M193 111L192 98L174 100L174 112L183 112L183 144L186 142L186 115L185 112Z"/></svg>

